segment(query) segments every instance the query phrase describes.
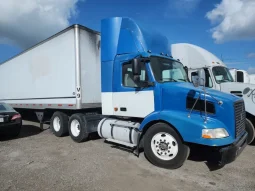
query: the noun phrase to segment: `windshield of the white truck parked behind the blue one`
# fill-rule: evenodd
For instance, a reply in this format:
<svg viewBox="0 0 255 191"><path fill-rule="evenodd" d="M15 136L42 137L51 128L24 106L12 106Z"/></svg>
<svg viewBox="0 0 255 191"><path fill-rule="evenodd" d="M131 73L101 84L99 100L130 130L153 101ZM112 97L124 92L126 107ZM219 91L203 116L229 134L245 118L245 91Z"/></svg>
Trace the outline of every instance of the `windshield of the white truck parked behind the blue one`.
<svg viewBox="0 0 255 191"><path fill-rule="evenodd" d="M215 66L212 69L215 80L218 84L224 82L233 82L233 78L228 70L228 68L222 66Z"/></svg>

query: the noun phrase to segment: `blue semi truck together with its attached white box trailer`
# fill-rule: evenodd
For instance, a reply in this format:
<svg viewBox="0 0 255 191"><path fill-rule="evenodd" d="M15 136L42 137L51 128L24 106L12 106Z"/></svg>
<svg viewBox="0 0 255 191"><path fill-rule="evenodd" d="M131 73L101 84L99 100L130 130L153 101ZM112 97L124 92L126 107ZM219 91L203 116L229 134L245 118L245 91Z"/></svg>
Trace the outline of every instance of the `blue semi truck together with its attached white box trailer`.
<svg viewBox="0 0 255 191"><path fill-rule="evenodd" d="M48 55L41 70L45 61L50 63L43 74L40 61L31 59L37 49L38 55ZM41 123L50 120L57 137L69 134L83 142L98 132L136 155L142 147L152 164L168 169L183 165L190 144L216 151L221 164L233 162L247 144L242 98L204 88L202 70L197 83L191 83L182 63L171 56L167 38L150 34L132 19L104 19L101 33L73 25L7 61L0 72L22 56L24 66L31 65L23 68L32 69L21 69L23 78L15 83L24 83L32 73L35 80L27 85L32 93L0 93L0 100L24 116L34 112ZM57 64L59 70L51 73ZM38 71L41 76L35 77Z"/></svg>

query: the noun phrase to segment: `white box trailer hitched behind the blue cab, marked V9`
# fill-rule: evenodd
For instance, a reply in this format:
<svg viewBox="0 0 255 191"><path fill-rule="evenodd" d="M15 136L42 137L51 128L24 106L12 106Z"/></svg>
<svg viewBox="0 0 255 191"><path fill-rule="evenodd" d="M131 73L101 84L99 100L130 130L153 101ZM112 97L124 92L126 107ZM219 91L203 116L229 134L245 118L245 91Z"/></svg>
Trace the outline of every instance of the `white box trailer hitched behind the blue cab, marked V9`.
<svg viewBox="0 0 255 191"><path fill-rule="evenodd" d="M33 109L40 122L46 120L41 110L100 108L100 39L73 25L2 63L0 100Z"/></svg>

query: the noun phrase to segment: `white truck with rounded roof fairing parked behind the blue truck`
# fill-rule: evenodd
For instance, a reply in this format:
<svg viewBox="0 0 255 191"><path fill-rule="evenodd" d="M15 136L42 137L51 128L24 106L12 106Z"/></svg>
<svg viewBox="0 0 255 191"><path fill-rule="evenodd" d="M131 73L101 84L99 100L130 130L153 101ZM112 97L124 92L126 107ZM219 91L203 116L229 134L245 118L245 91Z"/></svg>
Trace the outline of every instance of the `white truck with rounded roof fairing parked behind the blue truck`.
<svg viewBox="0 0 255 191"><path fill-rule="evenodd" d="M204 69L207 88L231 93L244 99L247 142L251 144L255 137L255 85L235 82L227 66L215 55L199 46L188 43L172 44L171 53L173 58L180 60L186 67L191 81L197 78L199 69Z"/></svg>

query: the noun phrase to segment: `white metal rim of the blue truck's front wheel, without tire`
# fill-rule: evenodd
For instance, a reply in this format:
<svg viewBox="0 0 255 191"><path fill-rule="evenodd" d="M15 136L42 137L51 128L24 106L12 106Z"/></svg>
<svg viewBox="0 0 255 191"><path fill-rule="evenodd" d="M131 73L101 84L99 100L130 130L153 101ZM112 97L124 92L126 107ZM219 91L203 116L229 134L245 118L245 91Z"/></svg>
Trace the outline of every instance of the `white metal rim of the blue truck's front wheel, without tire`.
<svg viewBox="0 0 255 191"><path fill-rule="evenodd" d="M161 160L172 160L178 154L178 143L168 133L157 133L151 139L151 149Z"/></svg>

